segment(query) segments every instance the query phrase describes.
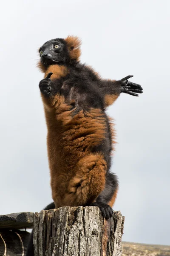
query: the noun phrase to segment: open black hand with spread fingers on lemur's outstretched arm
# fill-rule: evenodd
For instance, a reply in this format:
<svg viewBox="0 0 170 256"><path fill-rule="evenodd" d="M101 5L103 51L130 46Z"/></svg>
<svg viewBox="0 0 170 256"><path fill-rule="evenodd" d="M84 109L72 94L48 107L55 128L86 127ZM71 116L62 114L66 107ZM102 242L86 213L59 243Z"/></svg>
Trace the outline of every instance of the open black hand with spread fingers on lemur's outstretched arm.
<svg viewBox="0 0 170 256"><path fill-rule="evenodd" d="M121 81L121 93L127 93L133 96L139 96L137 93L143 93L143 88L141 87L140 84L135 84L127 79L130 77L133 77L132 75L126 76L125 78L122 78Z"/></svg>

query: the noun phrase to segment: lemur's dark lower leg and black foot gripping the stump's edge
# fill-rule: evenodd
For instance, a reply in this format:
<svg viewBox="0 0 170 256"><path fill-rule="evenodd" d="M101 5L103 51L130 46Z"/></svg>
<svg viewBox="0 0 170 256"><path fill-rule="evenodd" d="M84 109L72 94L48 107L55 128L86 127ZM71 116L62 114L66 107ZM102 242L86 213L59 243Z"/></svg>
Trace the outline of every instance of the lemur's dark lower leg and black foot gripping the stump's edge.
<svg viewBox="0 0 170 256"><path fill-rule="evenodd" d="M118 192L118 180L113 173L106 174L105 189L96 198L96 201L91 206L97 206L102 212L102 215L108 219L113 215L113 204L116 200Z"/></svg>

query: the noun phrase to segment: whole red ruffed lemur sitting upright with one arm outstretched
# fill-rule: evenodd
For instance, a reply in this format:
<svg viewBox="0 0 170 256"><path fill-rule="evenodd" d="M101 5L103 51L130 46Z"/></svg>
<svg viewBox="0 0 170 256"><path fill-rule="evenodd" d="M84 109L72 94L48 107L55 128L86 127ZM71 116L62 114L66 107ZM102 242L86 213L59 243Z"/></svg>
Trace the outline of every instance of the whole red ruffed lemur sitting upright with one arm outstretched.
<svg viewBox="0 0 170 256"><path fill-rule="evenodd" d="M81 64L79 38L52 39L39 49L39 87L48 128L47 148L54 203L97 206L108 219L118 191L110 172L114 129L105 109L120 93L138 96L142 87L127 79L101 79ZM33 237L31 238L33 239ZM27 255L34 255L30 240Z"/></svg>

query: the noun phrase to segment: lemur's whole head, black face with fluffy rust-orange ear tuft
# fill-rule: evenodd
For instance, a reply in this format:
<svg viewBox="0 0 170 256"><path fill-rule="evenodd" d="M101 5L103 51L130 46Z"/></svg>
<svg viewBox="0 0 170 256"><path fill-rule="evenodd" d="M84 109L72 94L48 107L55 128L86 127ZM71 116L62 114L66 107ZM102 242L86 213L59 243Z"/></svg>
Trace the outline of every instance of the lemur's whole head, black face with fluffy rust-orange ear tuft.
<svg viewBox="0 0 170 256"><path fill-rule="evenodd" d="M42 72L54 64L71 64L79 61L81 41L74 36L47 41L39 49L38 67Z"/></svg>

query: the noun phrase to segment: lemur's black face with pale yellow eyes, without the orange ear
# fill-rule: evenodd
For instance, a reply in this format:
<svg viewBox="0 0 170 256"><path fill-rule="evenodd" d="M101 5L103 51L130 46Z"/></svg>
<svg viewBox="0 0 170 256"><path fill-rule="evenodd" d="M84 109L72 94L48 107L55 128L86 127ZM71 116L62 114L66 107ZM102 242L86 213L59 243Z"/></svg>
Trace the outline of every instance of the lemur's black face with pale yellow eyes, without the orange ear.
<svg viewBox="0 0 170 256"><path fill-rule="evenodd" d="M39 49L41 62L46 67L52 64L65 64L68 61L68 49L64 39L52 39Z"/></svg>

